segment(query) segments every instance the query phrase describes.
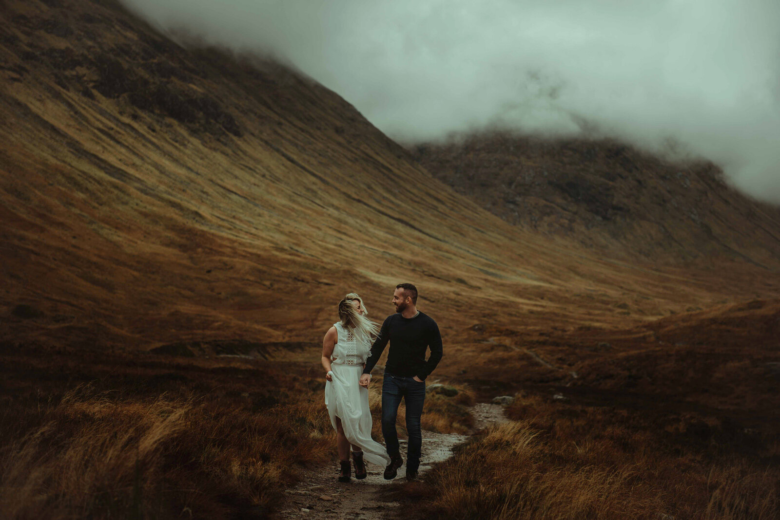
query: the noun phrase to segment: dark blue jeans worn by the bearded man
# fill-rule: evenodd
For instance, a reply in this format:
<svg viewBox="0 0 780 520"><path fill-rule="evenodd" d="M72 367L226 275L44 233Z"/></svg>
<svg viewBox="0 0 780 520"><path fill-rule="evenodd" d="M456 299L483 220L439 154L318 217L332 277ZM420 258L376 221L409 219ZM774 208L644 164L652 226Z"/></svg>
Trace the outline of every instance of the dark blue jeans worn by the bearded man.
<svg viewBox="0 0 780 520"><path fill-rule="evenodd" d="M385 436L385 446L391 457L400 455L395 417L401 399L406 401L406 431L409 433L406 471L417 471L423 445L420 417L425 402L425 381L414 381L412 377L404 378L385 372L385 381L382 383L382 435Z"/></svg>

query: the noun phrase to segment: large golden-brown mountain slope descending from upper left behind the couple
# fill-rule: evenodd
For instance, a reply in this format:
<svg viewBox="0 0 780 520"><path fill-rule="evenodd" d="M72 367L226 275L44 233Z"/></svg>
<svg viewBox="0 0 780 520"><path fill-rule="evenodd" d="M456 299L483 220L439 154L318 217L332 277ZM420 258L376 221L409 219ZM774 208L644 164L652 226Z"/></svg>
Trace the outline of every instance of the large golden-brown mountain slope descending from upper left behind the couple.
<svg viewBox="0 0 780 520"><path fill-rule="evenodd" d="M780 294L742 259L661 271L513 227L335 93L181 47L112 0L0 12L5 343L311 341L344 293L381 316L402 280L450 331Z"/></svg>

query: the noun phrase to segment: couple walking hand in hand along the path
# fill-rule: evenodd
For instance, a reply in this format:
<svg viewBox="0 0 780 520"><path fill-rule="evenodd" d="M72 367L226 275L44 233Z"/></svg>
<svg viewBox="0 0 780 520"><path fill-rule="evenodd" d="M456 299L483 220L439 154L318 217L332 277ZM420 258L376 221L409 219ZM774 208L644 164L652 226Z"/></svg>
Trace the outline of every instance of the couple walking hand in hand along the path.
<svg viewBox="0 0 780 520"><path fill-rule="evenodd" d="M355 478L367 476L365 461L385 468L385 479L394 479L403 459L399 451L395 416L401 399L406 401L406 431L409 433L406 479L417 478L420 467L422 435L420 417L425 402L425 378L441 360L441 334L427 314L417 311L417 287L399 283L392 303L395 314L378 324L367 318L363 300L349 293L339 302L339 322L322 341L322 366L325 376L325 405L336 430L341 470L339 482L349 482L350 446L355 463ZM385 379L382 383L382 435L386 448L371 439L371 410L368 385L371 370L388 342ZM425 351L431 356L425 360Z"/></svg>

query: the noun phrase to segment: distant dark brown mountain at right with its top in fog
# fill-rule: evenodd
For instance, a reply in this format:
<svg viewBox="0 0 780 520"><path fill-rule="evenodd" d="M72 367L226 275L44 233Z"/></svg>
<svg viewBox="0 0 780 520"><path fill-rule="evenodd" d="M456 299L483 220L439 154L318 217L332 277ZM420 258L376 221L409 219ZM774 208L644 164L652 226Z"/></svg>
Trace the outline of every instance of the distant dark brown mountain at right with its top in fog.
<svg viewBox="0 0 780 520"><path fill-rule="evenodd" d="M711 163L672 163L620 142L475 135L415 156L509 223L619 258L777 272L780 208L730 188Z"/></svg>

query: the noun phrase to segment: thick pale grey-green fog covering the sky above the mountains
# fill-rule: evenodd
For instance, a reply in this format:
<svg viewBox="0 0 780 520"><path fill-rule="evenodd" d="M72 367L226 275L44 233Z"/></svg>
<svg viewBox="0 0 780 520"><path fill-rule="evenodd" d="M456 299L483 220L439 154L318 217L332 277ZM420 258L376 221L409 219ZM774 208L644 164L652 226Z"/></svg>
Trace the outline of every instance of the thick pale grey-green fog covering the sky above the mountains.
<svg viewBox="0 0 780 520"><path fill-rule="evenodd" d="M778 0L122 1L293 64L399 142L610 136L780 202Z"/></svg>

